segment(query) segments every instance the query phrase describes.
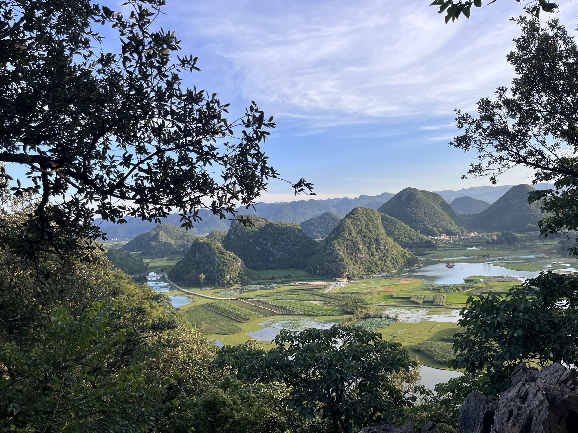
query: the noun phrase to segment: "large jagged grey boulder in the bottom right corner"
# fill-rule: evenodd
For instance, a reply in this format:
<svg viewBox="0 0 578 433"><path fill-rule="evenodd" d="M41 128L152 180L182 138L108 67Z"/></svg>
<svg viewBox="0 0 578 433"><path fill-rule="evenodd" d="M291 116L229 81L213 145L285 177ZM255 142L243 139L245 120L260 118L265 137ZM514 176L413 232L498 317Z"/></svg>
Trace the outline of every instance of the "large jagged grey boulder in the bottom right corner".
<svg viewBox="0 0 578 433"><path fill-rule="evenodd" d="M513 385L500 397L492 432L577 432L577 377L576 370L561 364L540 371L519 366L512 375Z"/></svg>

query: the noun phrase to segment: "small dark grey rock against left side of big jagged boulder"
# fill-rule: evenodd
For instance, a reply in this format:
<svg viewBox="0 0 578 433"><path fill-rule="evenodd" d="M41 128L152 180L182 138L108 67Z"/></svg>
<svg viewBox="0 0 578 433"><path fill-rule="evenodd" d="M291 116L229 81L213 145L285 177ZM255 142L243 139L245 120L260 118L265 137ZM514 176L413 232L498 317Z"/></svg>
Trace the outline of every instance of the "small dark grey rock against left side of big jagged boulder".
<svg viewBox="0 0 578 433"><path fill-rule="evenodd" d="M459 433L490 433L498 398L472 391L460 406Z"/></svg>

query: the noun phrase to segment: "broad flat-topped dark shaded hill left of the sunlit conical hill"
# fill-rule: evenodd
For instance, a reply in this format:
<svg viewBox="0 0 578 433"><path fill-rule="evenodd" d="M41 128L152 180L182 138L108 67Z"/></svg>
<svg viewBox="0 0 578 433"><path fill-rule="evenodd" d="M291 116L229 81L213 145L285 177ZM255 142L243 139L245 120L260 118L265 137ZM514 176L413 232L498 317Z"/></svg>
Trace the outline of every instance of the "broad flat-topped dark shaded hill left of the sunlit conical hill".
<svg viewBox="0 0 578 433"><path fill-rule="evenodd" d="M231 222L223 246L243 259L254 270L303 268L317 251L317 242L295 223L271 222L249 216L253 225Z"/></svg>

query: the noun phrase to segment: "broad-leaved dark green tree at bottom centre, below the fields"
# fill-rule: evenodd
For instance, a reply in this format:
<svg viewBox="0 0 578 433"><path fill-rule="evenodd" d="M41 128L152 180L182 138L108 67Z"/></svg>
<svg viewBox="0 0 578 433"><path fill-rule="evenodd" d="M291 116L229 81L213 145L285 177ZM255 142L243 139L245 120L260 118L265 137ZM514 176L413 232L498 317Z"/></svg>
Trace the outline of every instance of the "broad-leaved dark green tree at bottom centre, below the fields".
<svg viewBox="0 0 578 433"><path fill-rule="evenodd" d="M327 420L334 433L396 423L405 406L416 401L415 395L405 397L400 380L391 376L416 364L400 344L383 341L380 334L338 325L301 333L281 330L275 345L269 351L227 346L218 353L218 365L231 367L249 383L285 383L288 407L314 423Z"/></svg>

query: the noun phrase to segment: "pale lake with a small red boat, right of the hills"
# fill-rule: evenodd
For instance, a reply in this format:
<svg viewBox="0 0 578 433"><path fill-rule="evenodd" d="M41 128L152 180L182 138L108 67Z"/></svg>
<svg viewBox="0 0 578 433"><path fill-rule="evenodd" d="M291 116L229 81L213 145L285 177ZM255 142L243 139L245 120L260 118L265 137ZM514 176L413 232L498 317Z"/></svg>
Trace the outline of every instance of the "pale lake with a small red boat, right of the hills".
<svg viewBox="0 0 578 433"><path fill-rule="evenodd" d="M574 268L569 268L574 271ZM414 273L413 277L421 277L438 284L462 284L464 278L473 275L488 275L488 277L518 277L523 281L526 278L538 277L539 271L514 271L491 263L455 263L455 267L448 268L444 263L430 264Z"/></svg>

